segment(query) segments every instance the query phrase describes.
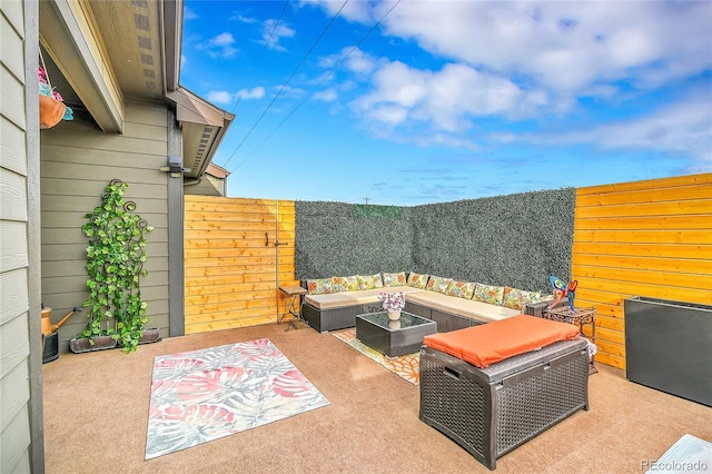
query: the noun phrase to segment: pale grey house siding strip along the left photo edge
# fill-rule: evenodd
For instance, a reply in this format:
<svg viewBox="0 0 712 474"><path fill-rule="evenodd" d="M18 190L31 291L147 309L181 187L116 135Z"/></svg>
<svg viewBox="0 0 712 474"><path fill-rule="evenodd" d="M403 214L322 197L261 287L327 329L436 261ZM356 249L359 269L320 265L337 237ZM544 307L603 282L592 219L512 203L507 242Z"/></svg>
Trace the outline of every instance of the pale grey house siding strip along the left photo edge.
<svg viewBox="0 0 712 474"><path fill-rule="evenodd" d="M37 228L31 159L37 157L37 4L0 2L0 472L43 472L39 299L31 268ZM29 62L29 61L28 61ZM33 101L31 99L34 99ZM34 320L33 318L37 318ZM34 397L34 399L33 399ZM33 445L34 443L34 445Z"/></svg>

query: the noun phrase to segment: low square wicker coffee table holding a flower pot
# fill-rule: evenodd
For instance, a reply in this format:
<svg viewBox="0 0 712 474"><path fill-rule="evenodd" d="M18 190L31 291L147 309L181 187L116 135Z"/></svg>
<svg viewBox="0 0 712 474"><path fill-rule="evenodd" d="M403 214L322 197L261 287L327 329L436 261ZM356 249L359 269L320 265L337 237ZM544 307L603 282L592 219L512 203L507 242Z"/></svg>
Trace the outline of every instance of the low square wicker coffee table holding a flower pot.
<svg viewBox="0 0 712 474"><path fill-rule="evenodd" d="M356 316L356 338L388 357L418 352L423 337L436 332L437 323L406 312L395 322L385 312Z"/></svg>

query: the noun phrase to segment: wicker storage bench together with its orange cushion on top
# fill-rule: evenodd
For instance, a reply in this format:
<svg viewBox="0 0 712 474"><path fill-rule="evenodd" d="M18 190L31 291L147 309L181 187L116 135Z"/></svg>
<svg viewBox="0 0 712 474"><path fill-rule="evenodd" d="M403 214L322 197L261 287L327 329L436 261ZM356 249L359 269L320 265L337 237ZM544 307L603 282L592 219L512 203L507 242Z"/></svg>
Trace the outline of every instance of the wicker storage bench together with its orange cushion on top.
<svg viewBox="0 0 712 474"><path fill-rule="evenodd" d="M589 409L589 353L578 327L520 315L427 336L419 417L485 466Z"/></svg>

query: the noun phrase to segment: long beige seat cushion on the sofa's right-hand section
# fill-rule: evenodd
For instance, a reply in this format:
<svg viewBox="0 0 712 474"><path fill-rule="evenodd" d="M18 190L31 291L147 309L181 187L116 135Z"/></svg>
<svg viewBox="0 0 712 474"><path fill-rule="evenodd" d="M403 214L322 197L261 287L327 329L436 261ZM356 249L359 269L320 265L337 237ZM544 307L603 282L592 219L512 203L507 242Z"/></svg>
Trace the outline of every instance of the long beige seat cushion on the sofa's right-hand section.
<svg viewBox="0 0 712 474"><path fill-rule="evenodd" d="M427 306L428 308L469 317L482 323L506 319L522 314L520 309L505 308L504 306L490 305L487 303L475 302L473 299L447 296L436 292L414 293L406 295L405 299L406 302L413 302Z"/></svg>

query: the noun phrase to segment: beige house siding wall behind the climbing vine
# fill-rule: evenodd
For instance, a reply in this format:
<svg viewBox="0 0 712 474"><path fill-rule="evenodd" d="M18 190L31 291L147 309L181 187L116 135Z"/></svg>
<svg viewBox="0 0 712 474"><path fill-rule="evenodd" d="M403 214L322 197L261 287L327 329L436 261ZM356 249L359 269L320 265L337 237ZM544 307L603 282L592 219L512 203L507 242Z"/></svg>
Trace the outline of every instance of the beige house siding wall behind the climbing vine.
<svg viewBox="0 0 712 474"><path fill-rule="evenodd" d="M168 319L168 175L159 170L168 154L165 105L126 106L123 135L105 134L79 112L41 135L42 302L57 322L88 298L85 215L99 203L112 179L128 182L126 200L155 230L147 234L148 276L141 297L149 326L169 333ZM87 325L76 313L59 328L60 350Z"/></svg>

